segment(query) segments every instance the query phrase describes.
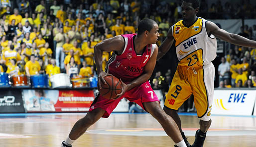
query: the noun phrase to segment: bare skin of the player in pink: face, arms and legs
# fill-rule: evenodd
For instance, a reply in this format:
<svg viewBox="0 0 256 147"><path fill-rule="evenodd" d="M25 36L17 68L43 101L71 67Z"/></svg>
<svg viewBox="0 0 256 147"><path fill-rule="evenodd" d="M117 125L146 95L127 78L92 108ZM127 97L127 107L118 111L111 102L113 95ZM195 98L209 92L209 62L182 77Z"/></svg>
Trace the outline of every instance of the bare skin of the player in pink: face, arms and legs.
<svg viewBox="0 0 256 147"><path fill-rule="evenodd" d="M158 33L158 25L154 23L154 27L150 31L144 31L143 34L137 35L134 40L135 51L137 54L143 54L143 49L148 44L155 44L159 37ZM102 52L103 51L117 51L118 54L123 52L125 47L125 41L122 36L116 36L111 39L106 39L103 42L97 44L94 48L95 53L95 62L98 73L98 88L101 89L101 81L106 84L104 77L110 75L109 73L105 73L102 70ZM119 94L119 98L123 96L127 91L132 88L144 83L147 81L155 67L156 56L158 53L158 48L156 47L152 56L149 58L147 64L144 67L144 72L135 80L131 81L129 84L123 84L123 89L121 94ZM153 102L144 102L143 106L145 110L150 113L156 120L162 125L166 134L171 137L171 139L175 143L179 143L182 141L182 136L179 133L179 128L176 125L175 121L167 115L160 106L158 101ZM72 128L69 138L72 140L78 139L81 135L85 133L85 131L97 122L105 113L105 110L102 108L96 108L86 114L86 116L76 122L74 127Z"/></svg>

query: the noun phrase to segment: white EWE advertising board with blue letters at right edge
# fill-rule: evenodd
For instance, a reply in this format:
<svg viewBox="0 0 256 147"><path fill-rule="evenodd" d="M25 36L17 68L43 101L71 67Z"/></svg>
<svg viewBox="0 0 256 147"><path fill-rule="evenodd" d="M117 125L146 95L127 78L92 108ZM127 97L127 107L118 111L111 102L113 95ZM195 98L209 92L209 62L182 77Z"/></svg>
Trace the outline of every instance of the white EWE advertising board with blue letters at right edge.
<svg viewBox="0 0 256 147"><path fill-rule="evenodd" d="M252 115L256 91L214 90L212 114Z"/></svg>

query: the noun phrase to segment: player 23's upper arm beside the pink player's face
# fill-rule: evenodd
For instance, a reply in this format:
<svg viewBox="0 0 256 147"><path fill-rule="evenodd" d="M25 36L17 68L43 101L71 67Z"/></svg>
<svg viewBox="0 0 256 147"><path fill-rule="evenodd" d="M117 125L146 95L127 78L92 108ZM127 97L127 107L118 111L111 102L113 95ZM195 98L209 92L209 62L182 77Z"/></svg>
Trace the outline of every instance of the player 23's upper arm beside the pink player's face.
<svg viewBox="0 0 256 147"><path fill-rule="evenodd" d="M156 58L157 60L159 60L163 55L165 55L165 53L171 48L173 41L174 41L174 37L172 36L172 27L170 27L167 33L167 37L159 47L157 58Z"/></svg>

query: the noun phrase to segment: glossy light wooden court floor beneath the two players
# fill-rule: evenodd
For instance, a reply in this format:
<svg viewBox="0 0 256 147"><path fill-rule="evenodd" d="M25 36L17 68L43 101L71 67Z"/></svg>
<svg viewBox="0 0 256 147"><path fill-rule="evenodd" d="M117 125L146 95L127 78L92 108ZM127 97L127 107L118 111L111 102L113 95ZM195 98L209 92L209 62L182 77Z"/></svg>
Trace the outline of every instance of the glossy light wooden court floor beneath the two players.
<svg viewBox="0 0 256 147"><path fill-rule="evenodd" d="M60 147L83 113L0 115L0 147ZM182 127L194 142L196 116L181 115ZM101 118L73 147L173 147L173 141L147 113L113 113ZM204 147L256 147L256 118L212 116Z"/></svg>

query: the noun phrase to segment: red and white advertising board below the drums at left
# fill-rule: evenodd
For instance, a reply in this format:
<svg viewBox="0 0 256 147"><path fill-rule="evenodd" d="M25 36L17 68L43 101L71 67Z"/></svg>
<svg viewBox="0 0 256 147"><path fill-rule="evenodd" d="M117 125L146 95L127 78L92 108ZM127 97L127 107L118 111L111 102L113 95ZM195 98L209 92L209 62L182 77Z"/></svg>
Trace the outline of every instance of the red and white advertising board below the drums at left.
<svg viewBox="0 0 256 147"><path fill-rule="evenodd" d="M23 90L27 112L88 111L94 100L93 90Z"/></svg>

